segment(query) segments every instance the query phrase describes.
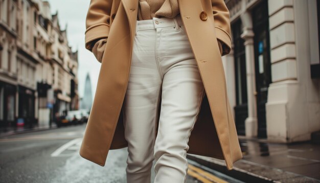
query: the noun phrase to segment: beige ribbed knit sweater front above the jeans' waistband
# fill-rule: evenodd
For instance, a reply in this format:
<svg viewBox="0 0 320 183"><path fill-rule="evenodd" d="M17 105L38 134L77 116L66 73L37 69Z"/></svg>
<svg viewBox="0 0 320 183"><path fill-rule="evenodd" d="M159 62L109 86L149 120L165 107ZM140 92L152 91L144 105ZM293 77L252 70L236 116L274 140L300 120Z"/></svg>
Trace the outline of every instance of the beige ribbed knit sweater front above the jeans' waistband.
<svg viewBox="0 0 320 183"><path fill-rule="evenodd" d="M138 20L152 17L175 17L179 14L178 0L139 0Z"/></svg>

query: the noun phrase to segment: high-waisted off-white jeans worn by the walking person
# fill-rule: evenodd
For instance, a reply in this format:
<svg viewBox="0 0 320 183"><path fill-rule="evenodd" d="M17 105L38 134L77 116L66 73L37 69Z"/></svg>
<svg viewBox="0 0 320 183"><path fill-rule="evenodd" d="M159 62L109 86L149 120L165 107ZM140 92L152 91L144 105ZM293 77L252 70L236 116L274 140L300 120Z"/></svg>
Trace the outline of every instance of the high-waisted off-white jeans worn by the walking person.
<svg viewBox="0 0 320 183"><path fill-rule="evenodd" d="M180 16L138 20L123 107L127 182L150 182L154 158L154 182L186 181L189 136L203 96L202 80Z"/></svg>

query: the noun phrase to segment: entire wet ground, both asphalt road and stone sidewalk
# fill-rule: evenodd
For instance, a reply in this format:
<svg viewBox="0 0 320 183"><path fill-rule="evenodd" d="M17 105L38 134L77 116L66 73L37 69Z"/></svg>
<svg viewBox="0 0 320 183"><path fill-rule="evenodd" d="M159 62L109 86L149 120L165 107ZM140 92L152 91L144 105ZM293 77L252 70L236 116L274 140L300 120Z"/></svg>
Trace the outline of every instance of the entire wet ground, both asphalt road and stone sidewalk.
<svg viewBox="0 0 320 183"><path fill-rule="evenodd" d="M89 162L79 155L84 130L85 124L1 136L0 182L126 182L127 148L110 150L104 167ZM239 140L243 159L232 171L224 160L188 154L187 182L320 182L320 145Z"/></svg>

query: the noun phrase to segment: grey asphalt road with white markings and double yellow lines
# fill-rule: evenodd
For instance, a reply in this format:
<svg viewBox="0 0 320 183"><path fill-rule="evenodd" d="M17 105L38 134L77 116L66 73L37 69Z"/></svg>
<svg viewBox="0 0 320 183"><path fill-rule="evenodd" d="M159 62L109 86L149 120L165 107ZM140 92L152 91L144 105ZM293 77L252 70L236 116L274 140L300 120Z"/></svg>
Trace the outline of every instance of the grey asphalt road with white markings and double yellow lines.
<svg viewBox="0 0 320 183"><path fill-rule="evenodd" d="M105 167L89 162L79 155L84 129L85 124L0 139L0 181L126 182L127 148L110 150ZM187 182L213 181L226 182L189 163Z"/></svg>

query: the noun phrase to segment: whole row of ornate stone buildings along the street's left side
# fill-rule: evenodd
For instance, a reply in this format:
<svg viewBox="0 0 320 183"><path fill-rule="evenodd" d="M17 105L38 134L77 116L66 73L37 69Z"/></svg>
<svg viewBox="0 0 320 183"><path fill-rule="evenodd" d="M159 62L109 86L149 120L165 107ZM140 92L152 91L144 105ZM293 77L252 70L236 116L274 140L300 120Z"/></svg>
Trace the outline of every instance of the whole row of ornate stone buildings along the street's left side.
<svg viewBox="0 0 320 183"><path fill-rule="evenodd" d="M78 109L77 51L48 2L2 0L0 9L0 128L50 126L57 91L67 110Z"/></svg>

